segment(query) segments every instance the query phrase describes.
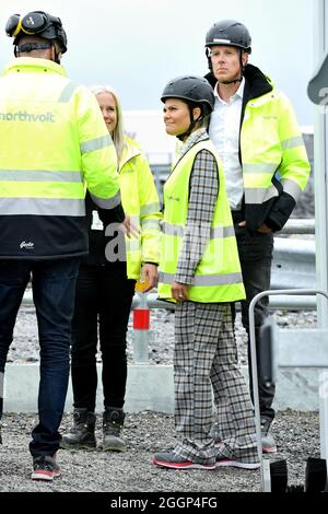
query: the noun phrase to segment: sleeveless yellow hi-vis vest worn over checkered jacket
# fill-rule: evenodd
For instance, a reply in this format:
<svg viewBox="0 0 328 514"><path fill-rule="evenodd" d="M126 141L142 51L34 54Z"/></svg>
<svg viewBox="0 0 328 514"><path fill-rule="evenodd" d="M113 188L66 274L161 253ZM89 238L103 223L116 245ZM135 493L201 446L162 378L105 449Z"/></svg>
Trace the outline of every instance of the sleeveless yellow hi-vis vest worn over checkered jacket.
<svg viewBox="0 0 328 514"><path fill-rule="evenodd" d="M238 249L224 185L220 156L210 140L196 143L177 163L164 186L164 222L159 273L159 295L173 301L171 285L175 280L184 230L188 215L189 180L194 161L201 150L216 160L219 195L210 240L188 287L190 301L215 303L245 299ZM201 227L196 227L201 232ZM195 234L197 236L197 234ZM201 236L201 233L199 234Z"/></svg>

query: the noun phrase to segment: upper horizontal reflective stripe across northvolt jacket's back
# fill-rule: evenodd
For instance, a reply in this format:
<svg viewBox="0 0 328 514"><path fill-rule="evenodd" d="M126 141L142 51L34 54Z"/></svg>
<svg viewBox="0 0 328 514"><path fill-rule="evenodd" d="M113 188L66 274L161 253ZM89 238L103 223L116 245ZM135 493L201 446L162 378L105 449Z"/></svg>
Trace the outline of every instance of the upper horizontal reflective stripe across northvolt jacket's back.
<svg viewBox="0 0 328 514"><path fill-rule="evenodd" d="M81 172L47 172L43 170L0 170L0 180L82 183L83 178Z"/></svg>

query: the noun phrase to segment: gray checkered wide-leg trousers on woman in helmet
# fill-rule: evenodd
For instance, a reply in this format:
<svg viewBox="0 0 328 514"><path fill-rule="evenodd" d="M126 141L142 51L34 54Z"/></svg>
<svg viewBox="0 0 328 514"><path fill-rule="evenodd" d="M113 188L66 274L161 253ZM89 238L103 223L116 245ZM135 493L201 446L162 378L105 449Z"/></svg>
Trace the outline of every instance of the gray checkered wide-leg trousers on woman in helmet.
<svg viewBox="0 0 328 514"><path fill-rule="evenodd" d="M237 363L230 304L177 304L174 384L175 428L181 436L175 453L194 463L212 464L218 449L210 431L216 421L223 455L258 460L254 409Z"/></svg>

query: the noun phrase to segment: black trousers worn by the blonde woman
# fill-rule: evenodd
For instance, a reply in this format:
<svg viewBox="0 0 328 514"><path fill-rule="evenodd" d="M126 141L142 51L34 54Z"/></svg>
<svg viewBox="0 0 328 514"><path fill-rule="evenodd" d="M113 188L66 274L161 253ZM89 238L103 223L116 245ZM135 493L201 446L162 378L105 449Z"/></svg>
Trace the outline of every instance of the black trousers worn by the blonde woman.
<svg viewBox="0 0 328 514"><path fill-rule="evenodd" d="M75 408L94 411L97 332L106 407L122 408L127 382L126 337L134 293L126 266L81 264L72 323L71 371Z"/></svg>

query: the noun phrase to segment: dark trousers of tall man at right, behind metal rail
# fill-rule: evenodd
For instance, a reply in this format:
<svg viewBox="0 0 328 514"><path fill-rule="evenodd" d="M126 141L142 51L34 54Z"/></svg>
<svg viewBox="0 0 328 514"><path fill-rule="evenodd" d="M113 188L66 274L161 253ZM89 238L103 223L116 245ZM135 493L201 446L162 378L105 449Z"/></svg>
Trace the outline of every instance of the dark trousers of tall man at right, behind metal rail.
<svg viewBox="0 0 328 514"><path fill-rule="evenodd" d="M256 294L270 289L271 262L273 253L273 234L262 234L260 232L249 233L245 227L235 224L235 232L238 245L243 280L246 290L246 300L242 302L242 323L248 334L248 371L250 396L253 396L251 363L249 348L249 320L248 307ZM257 361L259 361L259 346L261 344L259 329L268 316L268 296L257 302L255 306L255 336L257 347ZM267 386L259 373L259 404L262 419L273 420L274 410L272 402L274 397L274 386Z"/></svg>

